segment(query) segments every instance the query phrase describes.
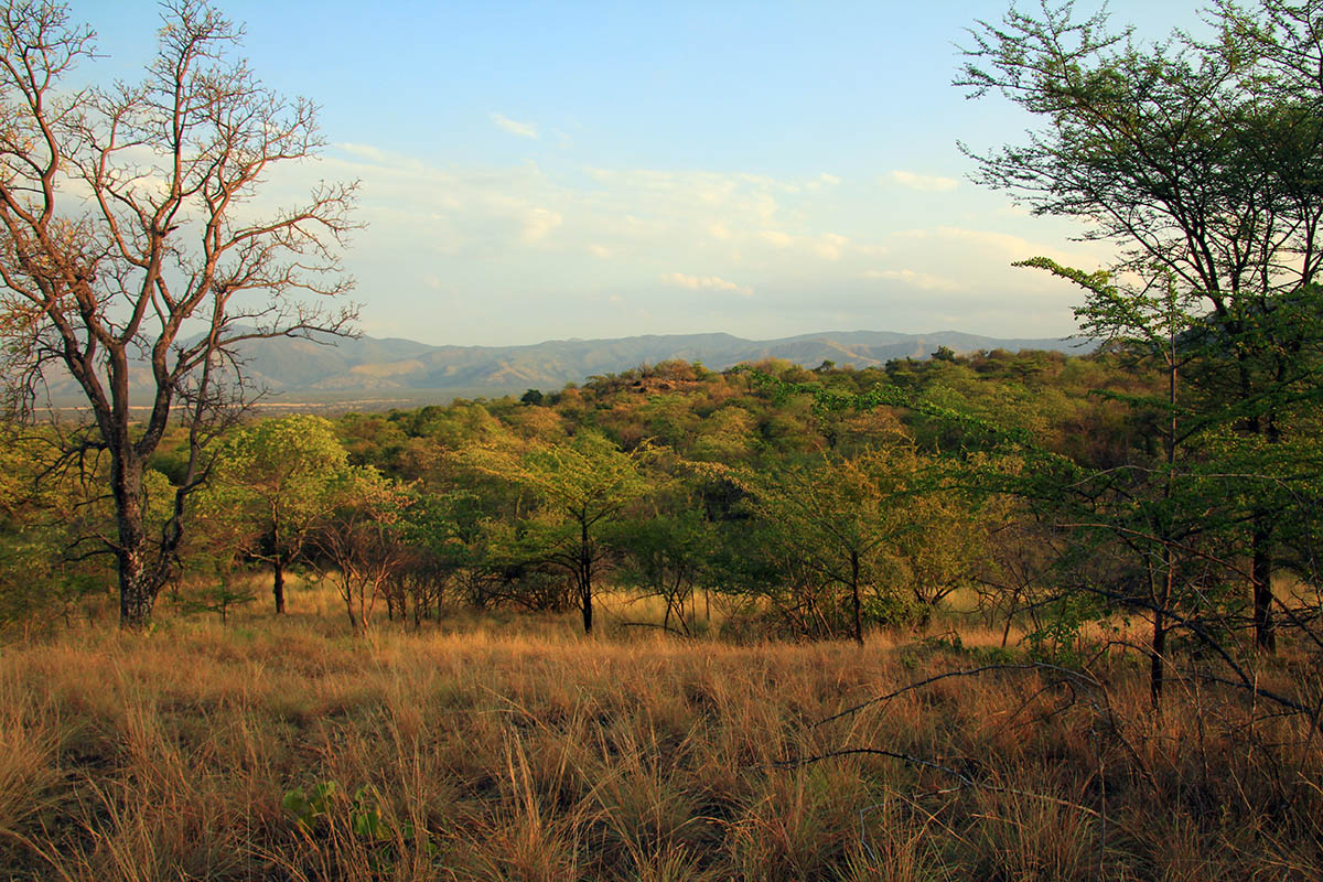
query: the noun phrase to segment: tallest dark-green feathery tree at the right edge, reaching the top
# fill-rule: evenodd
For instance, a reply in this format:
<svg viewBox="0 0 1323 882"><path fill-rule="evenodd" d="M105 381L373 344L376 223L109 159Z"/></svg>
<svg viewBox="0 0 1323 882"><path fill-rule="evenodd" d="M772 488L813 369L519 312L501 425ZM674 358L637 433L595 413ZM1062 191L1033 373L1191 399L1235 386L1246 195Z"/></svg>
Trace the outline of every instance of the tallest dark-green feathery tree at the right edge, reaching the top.
<svg viewBox="0 0 1323 882"><path fill-rule="evenodd" d="M1115 245L1107 268L1123 298L1171 279L1222 353L1205 362L1216 407L1270 444L1291 405L1319 394L1320 13L1318 0L1225 3L1213 12L1220 40L1142 45L1105 15L1072 20L1069 4L1041 19L1012 9L971 32L958 79L1041 120L1027 143L967 151L982 182ZM1271 649L1274 505L1250 495L1246 521L1256 640Z"/></svg>

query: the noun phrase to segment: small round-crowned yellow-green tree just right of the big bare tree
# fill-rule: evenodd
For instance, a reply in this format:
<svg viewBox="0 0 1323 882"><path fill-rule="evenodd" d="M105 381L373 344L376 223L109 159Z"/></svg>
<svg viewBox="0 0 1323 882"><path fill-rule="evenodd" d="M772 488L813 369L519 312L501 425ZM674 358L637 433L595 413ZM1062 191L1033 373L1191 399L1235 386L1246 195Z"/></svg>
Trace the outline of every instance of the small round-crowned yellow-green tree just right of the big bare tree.
<svg viewBox="0 0 1323 882"><path fill-rule="evenodd" d="M308 534L341 504L348 468L335 428L308 415L249 426L217 456L200 512L212 521L241 524L247 554L271 565L278 614L284 612L286 567L303 554Z"/></svg>

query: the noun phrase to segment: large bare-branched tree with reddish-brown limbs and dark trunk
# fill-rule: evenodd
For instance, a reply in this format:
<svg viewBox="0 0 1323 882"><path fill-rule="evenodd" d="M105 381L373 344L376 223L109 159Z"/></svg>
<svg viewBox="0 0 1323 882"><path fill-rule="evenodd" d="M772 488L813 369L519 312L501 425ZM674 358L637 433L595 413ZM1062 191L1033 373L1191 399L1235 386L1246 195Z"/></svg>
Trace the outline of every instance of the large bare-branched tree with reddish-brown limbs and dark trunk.
<svg viewBox="0 0 1323 882"><path fill-rule="evenodd" d="M0 4L0 333L32 401L67 373L89 422L70 454L108 460L120 623L144 625L173 570L206 443L254 391L238 346L343 333L337 253L352 184L321 184L263 214L279 167L320 147L315 107L263 87L232 53L241 29L204 0L169 0L136 86L78 90L93 33L49 0ZM146 417L130 405L147 405ZM143 473L171 417L188 465L159 534Z"/></svg>

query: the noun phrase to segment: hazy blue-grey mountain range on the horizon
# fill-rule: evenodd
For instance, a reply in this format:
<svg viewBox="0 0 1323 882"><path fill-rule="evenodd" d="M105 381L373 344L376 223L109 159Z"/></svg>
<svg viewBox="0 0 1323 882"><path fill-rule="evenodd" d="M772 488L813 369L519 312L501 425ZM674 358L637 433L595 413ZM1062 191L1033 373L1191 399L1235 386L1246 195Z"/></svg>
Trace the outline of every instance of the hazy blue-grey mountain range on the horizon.
<svg viewBox="0 0 1323 882"><path fill-rule="evenodd" d="M744 340L728 333L646 335L618 340L549 340L525 346L431 346L413 340L359 337L325 344L308 340L257 340L242 357L250 380L274 393L308 402L396 403L454 397L499 397L525 389L550 391L594 374L619 373L671 358L701 361L713 370L763 358L815 368L881 366L892 358L926 358L938 346L958 353L978 349L1053 349L1090 346L1062 339L1008 340L942 331L906 335L888 331L840 331L781 340ZM146 372L142 377L147 380ZM74 393L67 378L52 378L57 398Z"/></svg>

